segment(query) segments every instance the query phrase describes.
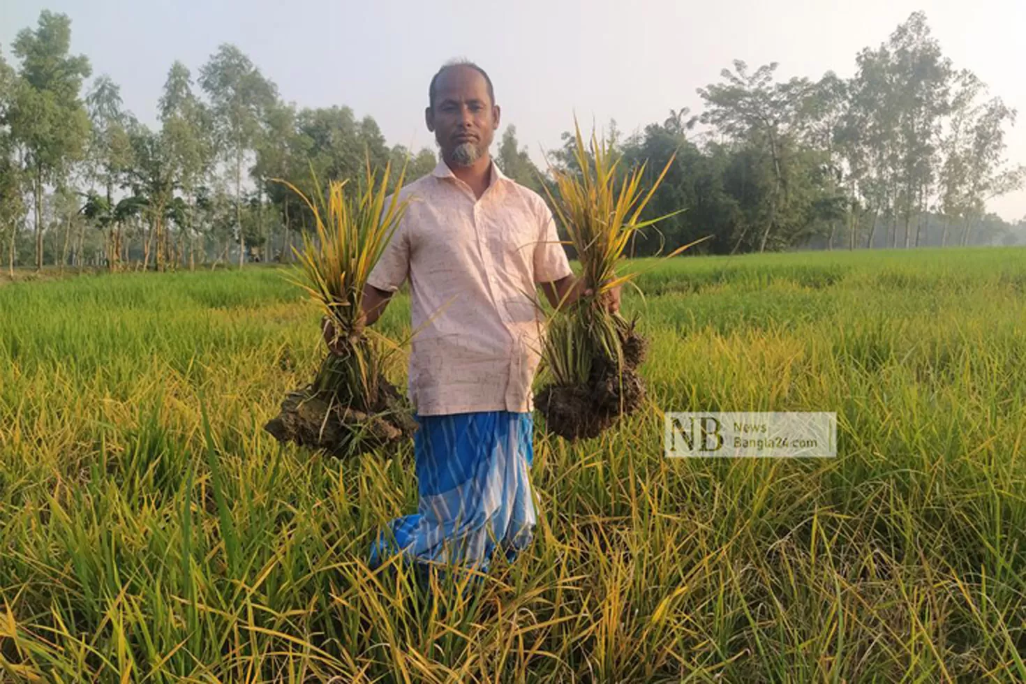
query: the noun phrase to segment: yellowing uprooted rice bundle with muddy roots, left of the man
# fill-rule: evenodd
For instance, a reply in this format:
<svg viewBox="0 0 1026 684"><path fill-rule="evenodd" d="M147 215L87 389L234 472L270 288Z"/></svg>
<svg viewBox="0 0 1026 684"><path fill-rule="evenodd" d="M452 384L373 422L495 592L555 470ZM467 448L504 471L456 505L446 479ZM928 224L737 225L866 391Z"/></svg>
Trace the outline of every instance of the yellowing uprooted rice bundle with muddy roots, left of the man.
<svg viewBox="0 0 1026 684"><path fill-rule="evenodd" d="M346 182L328 184L326 196L311 201L285 183L310 207L316 239L304 235L297 250L302 286L332 323L337 353L328 354L314 380L288 394L281 412L265 430L332 455L372 449L409 437L416 430L405 397L385 376L398 348L364 327L363 288L406 209L399 189L388 198L391 167L382 174L367 167L361 190L347 194ZM314 187L319 188L316 178Z"/></svg>

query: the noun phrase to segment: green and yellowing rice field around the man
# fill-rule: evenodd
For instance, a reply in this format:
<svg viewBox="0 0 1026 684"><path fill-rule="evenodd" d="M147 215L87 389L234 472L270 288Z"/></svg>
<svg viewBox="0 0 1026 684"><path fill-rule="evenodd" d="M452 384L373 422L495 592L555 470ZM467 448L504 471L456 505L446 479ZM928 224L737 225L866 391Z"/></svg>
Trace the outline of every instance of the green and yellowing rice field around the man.
<svg viewBox="0 0 1026 684"><path fill-rule="evenodd" d="M1026 680L1026 250L643 267L649 405L539 430L534 545L433 595L364 564L408 446L262 430L323 353L282 271L0 285L0 682ZM838 457L667 459L661 410Z"/></svg>

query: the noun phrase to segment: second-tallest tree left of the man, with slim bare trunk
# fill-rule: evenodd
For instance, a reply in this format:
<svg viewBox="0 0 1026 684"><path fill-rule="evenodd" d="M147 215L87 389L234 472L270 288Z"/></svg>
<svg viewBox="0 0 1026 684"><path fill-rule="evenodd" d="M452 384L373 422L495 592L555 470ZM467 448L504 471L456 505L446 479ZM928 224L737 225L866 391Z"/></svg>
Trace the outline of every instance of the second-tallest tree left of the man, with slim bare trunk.
<svg viewBox="0 0 1026 684"><path fill-rule="evenodd" d="M238 47L222 45L200 69L200 85L213 106L224 149L235 171L235 230L239 267L245 263L242 230L242 163L253 150L264 112L277 100L277 88Z"/></svg>

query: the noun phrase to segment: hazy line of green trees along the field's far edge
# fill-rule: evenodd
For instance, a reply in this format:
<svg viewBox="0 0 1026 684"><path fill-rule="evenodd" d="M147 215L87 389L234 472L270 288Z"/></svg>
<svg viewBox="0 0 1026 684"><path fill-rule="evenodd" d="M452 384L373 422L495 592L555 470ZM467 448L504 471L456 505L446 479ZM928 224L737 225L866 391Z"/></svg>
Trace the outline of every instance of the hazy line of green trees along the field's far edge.
<svg viewBox="0 0 1026 684"><path fill-rule="evenodd" d="M41 12L0 52L0 253L6 265L166 270L288 260L311 228L308 193L359 178L366 164L431 171L431 150L390 147L370 116L298 108L233 45L196 74L171 65L150 127L119 87L71 52L71 21ZM1016 112L958 70L913 13L855 75L781 80L777 65L735 62L699 88L700 114L670 110L605 142L621 169L669 163L647 209L684 208L639 236L636 255L712 236L701 251L874 248L1026 242L988 200L1020 188L1005 159ZM573 167L571 137L549 163ZM549 183L508 126L496 150L508 175L544 194ZM672 161L671 161L672 160Z"/></svg>

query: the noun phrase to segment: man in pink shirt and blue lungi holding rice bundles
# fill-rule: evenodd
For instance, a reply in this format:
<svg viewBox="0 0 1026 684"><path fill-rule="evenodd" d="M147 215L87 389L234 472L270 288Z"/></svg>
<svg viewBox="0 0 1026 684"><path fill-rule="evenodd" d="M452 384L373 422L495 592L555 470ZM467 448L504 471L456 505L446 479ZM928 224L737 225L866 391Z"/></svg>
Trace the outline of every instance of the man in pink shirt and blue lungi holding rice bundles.
<svg viewBox="0 0 1026 684"><path fill-rule="evenodd" d="M408 208L363 295L370 325L409 278L420 504L390 523L370 562L401 551L486 570L496 551L512 559L522 550L535 525L530 387L543 319L531 293L542 286L555 306L591 292L570 271L545 201L490 158L500 108L487 74L446 65L428 97L442 159L401 191ZM619 290L606 304L619 309Z"/></svg>

